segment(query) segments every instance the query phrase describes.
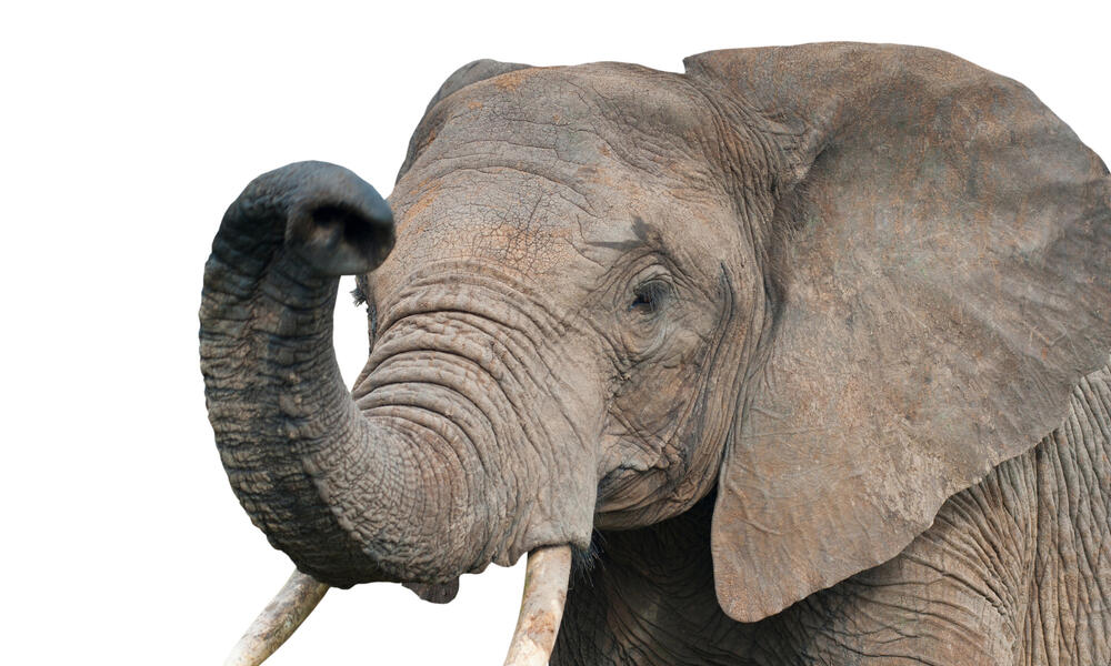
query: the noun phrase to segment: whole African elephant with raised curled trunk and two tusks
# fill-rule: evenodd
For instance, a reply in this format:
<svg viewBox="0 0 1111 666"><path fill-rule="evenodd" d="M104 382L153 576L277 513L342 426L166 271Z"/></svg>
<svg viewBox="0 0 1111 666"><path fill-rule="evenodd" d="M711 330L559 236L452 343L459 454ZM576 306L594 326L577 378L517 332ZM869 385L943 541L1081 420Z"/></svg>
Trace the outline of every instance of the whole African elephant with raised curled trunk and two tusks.
<svg viewBox="0 0 1111 666"><path fill-rule="evenodd" d="M209 416L300 572L236 658L534 553L514 664L1111 663L1109 266L1103 162L940 51L468 64L388 203L291 164L213 242Z"/></svg>

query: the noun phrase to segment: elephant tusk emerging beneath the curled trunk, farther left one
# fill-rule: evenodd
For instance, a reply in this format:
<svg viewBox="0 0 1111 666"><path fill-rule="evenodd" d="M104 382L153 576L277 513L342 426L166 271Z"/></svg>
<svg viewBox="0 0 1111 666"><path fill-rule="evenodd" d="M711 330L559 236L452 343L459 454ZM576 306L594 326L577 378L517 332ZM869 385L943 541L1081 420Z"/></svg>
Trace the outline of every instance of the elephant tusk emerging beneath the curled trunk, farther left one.
<svg viewBox="0 0 1111 666"><path fill-rule="evenodd" d="M231 649L224 666L258 666L293 635L328 592L328 585L293 571L259 617Z"/></svg>

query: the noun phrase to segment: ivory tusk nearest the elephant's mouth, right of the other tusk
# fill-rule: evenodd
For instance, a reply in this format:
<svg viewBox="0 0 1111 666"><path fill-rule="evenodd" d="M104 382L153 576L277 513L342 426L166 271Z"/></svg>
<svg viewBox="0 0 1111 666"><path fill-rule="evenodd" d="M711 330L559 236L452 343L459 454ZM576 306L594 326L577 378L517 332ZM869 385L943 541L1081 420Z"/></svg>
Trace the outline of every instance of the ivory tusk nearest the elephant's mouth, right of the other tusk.
<svg viewBox="0 0 1111 666"><path fill-rule="evenodd" d="M571 576L571 547L549 546L529 553L521 615L504 666L544 666L563 619Z"/></svg>

